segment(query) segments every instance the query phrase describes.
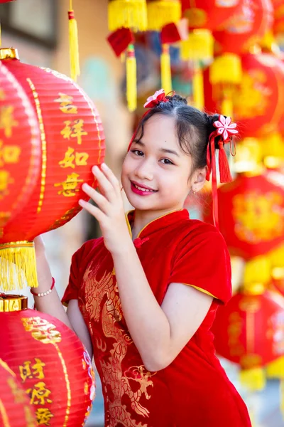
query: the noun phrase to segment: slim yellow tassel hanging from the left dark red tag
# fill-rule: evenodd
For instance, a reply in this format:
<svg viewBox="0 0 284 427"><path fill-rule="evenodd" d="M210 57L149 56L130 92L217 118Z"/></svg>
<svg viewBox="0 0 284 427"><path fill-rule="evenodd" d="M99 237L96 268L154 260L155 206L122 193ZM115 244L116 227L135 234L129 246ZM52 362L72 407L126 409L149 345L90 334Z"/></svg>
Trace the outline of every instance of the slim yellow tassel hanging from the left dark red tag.
<svg viewBox="0 0 284 427"><path fill-rule="evenodd" d="M126 99L129 111L133 112L137 107L137 68L134 46L127 48L126 56Z"/></svg>

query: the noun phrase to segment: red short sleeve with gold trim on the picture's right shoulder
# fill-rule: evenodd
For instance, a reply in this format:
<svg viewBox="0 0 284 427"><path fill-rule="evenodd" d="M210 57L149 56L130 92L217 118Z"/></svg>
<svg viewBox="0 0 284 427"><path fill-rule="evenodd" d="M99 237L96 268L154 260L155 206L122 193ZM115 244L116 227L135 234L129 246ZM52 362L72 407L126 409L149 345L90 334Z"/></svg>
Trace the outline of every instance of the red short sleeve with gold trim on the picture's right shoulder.
<svg viewBox="0 0 284 427"><path fill-rule="evenodd" d="M218 231L185 236L175 251L170 283L184 283L228 302L231 263L223 236Z"/></svg>

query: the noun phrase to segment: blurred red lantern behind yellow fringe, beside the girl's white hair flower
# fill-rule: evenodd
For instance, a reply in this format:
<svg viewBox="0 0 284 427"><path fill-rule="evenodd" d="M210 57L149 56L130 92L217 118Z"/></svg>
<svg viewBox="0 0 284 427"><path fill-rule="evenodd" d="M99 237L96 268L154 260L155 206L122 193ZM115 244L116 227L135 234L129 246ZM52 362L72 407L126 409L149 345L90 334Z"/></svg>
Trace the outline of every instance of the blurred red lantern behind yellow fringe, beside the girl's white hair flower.
<svg viewBox="0 0 284 427"><path fill-rule="evenodd" d="M241 57L243 78L241 86L232 93L234 120L241 137L256 137L275 132L283 115L284 70L279 60L269 53ZM204 73L205 107L210 112L221 110L223 92L209 81Z"/></svg>

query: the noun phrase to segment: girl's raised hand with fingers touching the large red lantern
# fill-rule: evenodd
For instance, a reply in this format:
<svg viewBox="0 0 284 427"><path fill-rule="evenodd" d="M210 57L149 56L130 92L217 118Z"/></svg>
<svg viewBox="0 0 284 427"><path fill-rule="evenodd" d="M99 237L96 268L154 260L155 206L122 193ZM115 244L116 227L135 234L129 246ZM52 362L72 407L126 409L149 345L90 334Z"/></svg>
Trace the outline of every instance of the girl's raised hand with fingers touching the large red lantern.
<svg viewBox="0 0 284 427"><path fill-rule="evenodd" d="M111 172L111 169L107 167L107 164L103 163L101 168L102 170L97 166L92 168L101 193L88 184L82 185L84 193L97 204L97 207L84 200L80 200L79 204L99 221L99 226L104 236L104 245L109 252L112 254L119 253L121 252L122 244L125 246L126 239L131 242L124 214L121 189L118 179Z"/></svg>

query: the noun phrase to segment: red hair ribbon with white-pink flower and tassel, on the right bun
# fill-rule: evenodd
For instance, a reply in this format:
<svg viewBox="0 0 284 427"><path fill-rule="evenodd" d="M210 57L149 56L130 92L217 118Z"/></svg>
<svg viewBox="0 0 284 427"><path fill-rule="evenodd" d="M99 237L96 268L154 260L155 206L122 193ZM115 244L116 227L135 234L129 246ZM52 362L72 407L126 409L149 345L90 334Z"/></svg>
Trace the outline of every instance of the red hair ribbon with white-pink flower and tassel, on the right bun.
<svg viewBox="0 0 284 427"><path fill-rule="evenodd" d="M216 167L216 155L215 155L215 139L218 137L219 145L219 174L220 182L231 182L231 172L229 168L228 159L226 158L226 152L224 150L224 144L230 144L231 155L235 155L231 150L231 137L232 135L238 134L236 130L236 123L231 122L231 117L224 117L219 115L219 120L213 123L216 130L209 136L209 144L207 146L207 176L206 179L209 181L210 174L212 171L212 204L213 204L213 220L214 225L219 228L218 221L218 195L217 195L217 167Z"/></svg>

